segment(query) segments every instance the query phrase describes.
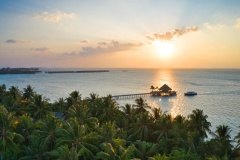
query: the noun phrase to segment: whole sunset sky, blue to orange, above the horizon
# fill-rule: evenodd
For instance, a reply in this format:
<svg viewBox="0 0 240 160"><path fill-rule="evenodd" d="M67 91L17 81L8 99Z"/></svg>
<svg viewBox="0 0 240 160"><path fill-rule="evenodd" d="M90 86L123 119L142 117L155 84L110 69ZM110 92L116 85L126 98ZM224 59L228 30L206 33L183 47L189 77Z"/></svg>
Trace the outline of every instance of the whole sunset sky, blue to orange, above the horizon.
<svg viewBox="0 0 240 160"><path fill-rule="evenodd" d="M0 0L0 67L240 68L240 1Z"/></svg>

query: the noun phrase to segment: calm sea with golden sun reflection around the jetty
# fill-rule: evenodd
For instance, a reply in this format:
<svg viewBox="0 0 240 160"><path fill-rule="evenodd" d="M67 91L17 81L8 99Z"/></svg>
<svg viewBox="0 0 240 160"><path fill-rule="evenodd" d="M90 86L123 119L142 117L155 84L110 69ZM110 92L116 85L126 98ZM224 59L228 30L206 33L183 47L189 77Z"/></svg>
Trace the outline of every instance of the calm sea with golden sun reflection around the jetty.
<svg viewBox="0 0 240 160"><path fill-rule="evenodd" d="M113 69L104 73L15 74L0 75L0 84L18 86L20 90L30 84L52 102L74 90L82 97L90 93L106 96L145 93L151 91L151 85L168 84L177 91L177 96L144 97L150 106L161 107L174 116L202 109L212 123L212 130L224 124L230 126L232 136L240 131L240 70ZM198 95L186 97L186 91L196 91ZM134 104L134 99L117 102Z"/></svg>

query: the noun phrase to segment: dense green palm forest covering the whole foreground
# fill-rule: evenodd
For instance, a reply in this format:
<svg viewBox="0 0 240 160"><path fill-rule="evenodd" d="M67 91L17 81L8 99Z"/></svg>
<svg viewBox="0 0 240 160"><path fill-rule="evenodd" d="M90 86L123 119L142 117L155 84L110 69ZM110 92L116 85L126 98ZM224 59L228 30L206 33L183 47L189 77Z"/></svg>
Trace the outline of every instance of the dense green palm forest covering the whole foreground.
<svg viewBox="0 0 240 160"><path fill-rule="evenodd" d="M211 131L207 118L200 109L173 117L142 98L118 106L111 95L83 99L78 91L50 103L30 85L3 84L0 159L240 158L240 132L231 137L226 125Z"/></svg>

